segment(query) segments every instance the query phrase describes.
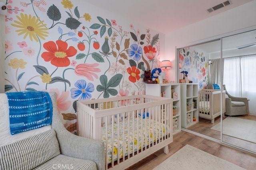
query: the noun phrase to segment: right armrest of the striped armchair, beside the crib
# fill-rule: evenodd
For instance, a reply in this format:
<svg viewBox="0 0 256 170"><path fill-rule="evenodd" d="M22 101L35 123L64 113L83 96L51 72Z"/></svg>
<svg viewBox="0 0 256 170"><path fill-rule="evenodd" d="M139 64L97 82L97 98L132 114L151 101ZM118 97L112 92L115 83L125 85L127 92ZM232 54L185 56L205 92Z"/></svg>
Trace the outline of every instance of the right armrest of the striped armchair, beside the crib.
<svg viewBox="0 0 256 170"><path fill-rule="evenodd" d="M96 162L98 170L105 169L105 144L102 141L80 137L66 129L57 133L60 153L74 158Z"/></svg>

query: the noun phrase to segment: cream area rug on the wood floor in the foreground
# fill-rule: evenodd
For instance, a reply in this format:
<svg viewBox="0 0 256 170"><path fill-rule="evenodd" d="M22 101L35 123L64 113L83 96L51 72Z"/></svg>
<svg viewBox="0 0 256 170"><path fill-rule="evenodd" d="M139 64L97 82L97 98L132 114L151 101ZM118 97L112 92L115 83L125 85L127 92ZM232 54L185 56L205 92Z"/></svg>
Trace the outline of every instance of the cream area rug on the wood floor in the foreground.
<svg viewBox="0 0 256 170"><path fill-rule="evenodd" d="M244 170L244 168L186 145L154 170Z"/></svg>

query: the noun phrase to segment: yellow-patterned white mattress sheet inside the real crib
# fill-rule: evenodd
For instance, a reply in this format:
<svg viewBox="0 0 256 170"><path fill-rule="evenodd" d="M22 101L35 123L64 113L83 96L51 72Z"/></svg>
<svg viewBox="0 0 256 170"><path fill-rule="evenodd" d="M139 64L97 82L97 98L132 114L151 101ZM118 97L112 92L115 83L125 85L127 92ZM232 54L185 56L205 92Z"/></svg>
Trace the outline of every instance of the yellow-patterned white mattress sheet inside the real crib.
<svg viewBox="0 0 256 170"><path fill-rule="evenodd" d="M107 135L106 135L106 127L102 127L101 131L101 137L102 141L106 141L107 145L107 162L110 163L112 161L112 142L114 143L114 153L113 153L113 159L116 161L118 158L124 156L128 156L128 154L132 153L132 150L136 152L137 150L140 150L142 148L154 142L156 142L159 139L159 136L162 137L162 133L164 133L164 136L167 135L168 132L170 132L169 127L167 127L164 123L160 123L158 121L155 121L150 118L141 119L135 118L134 121L130 120L120 122L119 125L117 123L114 123L114 131L112 132L112 124L107 126ZM146 126L145 126L146 124ZM138 129L137 129L138 125ZM130 129L129 129L130 128ZM118 137L118 131L119 134L123 133L125 137L120 135ZM128 129L130 136L128 136ZM113 138L112 138L113 133ZM107 140L106 140L107 138ZM118 146L119 141L119 146ZM138 148L137 148L138 147ZM117 150L120 150L117 152ZM129 150L129 152L128 152ZM119 157L117 155L119 153Z"/></svg>

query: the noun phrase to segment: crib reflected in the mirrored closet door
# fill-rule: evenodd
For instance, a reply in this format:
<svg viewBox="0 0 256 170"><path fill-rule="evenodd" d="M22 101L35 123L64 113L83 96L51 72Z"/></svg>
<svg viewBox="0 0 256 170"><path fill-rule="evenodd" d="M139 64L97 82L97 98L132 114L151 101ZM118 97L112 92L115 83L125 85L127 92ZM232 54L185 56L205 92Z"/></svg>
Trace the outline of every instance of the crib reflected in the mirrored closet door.
<svg viewBox="0 0 256 170"><path fill-rule="evenodd" d="M214 89L202 89L198 91L198 108L199 108L199 117L204 119L212 120L211 123L214 123L214 118L220 115L220 90ZM225 104L225 94L226 91L222 90L222 113L226 112Z"/></svg>

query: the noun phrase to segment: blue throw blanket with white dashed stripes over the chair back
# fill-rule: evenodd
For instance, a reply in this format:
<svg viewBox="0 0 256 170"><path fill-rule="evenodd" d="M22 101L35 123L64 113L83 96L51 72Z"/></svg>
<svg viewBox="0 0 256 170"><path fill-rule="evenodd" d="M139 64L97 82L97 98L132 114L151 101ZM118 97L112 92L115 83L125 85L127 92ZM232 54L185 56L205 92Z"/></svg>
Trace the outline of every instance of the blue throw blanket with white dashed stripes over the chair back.
<svg viewBox="0 0 256 170"><path fill-rule="evenodd" d="M48 92L9 92L6 95L12 135L52 123L52 100Z"/></svg>

